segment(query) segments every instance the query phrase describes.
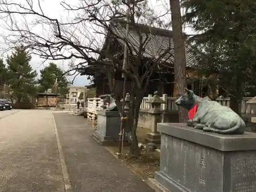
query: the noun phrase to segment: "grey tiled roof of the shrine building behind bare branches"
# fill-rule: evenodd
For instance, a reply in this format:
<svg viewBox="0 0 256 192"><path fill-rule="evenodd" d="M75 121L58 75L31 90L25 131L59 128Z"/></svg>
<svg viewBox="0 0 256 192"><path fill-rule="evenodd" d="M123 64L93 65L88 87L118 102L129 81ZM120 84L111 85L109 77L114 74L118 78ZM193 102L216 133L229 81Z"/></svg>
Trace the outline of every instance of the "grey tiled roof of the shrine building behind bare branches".
<svg viewBox="0 0 256 192"><path fill-rule="evenodd" d="M164 60L170 65L174 64L174 44L173 44L173 31L164 30L160 28L149 27L146 25L138 25L139 30L142 35L142 41L148 37L147 42L144 45L145 51L143 52L144 57L153 58L156 54L163 54L168 48L170 51L165 55ZM125 37L126 23L121 19L113 19L110 28L117 36L123 38ZM124 45L124 41L118 39L121 45ZM139 34L137 31L131 27L129 32L129 42L134 47L135 50L139 50ZM136 54L133 51L133 54ZM192 49L189 45L185 44L185 56L186 56L186 66L192 67L197 61L193 54Z"/></svg>

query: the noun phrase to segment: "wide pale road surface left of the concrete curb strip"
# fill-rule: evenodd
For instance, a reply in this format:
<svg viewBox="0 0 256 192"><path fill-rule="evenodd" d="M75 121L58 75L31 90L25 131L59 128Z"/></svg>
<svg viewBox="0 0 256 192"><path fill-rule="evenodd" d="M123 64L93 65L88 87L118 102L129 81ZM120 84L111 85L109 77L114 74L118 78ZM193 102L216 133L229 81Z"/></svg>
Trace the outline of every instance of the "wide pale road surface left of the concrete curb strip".
<svg viewBox="0 0 256 192"><path fill-rule="evenodd" d="M62 192L52 111L3 111L0 118L0 192Z"/></svg>

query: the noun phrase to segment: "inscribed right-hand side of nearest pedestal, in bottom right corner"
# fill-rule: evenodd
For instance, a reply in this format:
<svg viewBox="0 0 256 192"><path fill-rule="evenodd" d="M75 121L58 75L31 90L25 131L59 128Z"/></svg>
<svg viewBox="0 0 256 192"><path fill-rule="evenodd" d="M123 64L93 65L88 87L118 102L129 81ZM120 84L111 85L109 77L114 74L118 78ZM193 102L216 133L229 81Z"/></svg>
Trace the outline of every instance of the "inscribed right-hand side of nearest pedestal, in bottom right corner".
<svg viewBox="0 0 256 192"><path fill-rule="evenodd" d="M256 191L256 156L240 156L231 159L231 191Z"/></svg>

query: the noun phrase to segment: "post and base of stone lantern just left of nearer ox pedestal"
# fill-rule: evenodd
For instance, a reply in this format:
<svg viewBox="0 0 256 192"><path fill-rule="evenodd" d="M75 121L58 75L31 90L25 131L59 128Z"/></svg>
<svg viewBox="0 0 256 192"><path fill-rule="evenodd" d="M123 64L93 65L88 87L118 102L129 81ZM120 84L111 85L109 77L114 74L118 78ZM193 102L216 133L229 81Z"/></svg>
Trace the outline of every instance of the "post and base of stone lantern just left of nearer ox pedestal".
<svg viewBox="0 0 256 192"><path fill-rule="evenodd" d="M148 133L147 137L145 138L146 142L151 142L155 144L161 143L161 135L157 131L157 123L160 123L162 111L157 109L152 109L148 111L148 115L151 116L151 133Z"/></svg>

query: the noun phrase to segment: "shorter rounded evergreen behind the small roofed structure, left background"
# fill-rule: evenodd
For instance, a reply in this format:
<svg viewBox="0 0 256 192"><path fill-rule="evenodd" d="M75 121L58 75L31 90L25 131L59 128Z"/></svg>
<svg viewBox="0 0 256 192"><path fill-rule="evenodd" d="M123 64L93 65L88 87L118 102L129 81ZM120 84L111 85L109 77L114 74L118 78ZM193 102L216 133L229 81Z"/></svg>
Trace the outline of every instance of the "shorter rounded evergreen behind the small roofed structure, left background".
<svg viewBox="0 0 256 192"><path fill-rule="evenodd" d="M54 83L57 78L58 83L58 90L57 93L60 94L62 97L64 97L66 94L68 94L68 81L65 76L62 75L62 70L58 68L58 66L50 62L49 66L45 67L44 69L40 70L41 77L38 79L39 91L45 92L48 89L53 89ZM55 90L52 90L55 92Z"/></svg>

